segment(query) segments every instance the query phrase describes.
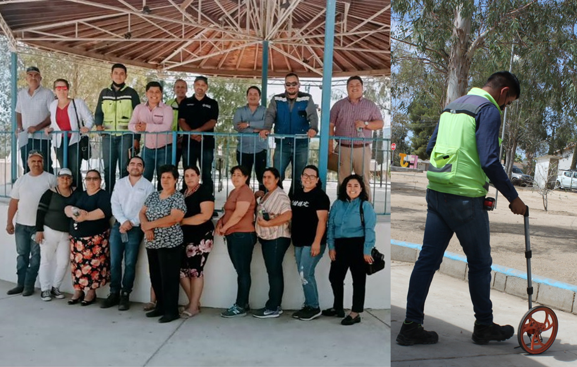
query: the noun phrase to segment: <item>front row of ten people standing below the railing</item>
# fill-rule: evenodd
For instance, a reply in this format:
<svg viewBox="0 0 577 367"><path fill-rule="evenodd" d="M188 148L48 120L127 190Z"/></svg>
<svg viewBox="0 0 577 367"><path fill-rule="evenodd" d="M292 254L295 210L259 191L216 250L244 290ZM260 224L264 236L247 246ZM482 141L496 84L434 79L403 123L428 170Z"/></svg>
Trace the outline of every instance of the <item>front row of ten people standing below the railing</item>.
<svg viewBox="0 0 577 367"><path fill-rule="evenodd" d="M305 296L304 307L293 317L312 320L321 314L338 316L343 325L361 321L366 263L373 262L370 251L375 245L376 223L361 176L343 180L329 211L329 198L321 188L316 166L303 169L302 187L289 195L283 191L278 169L265 168L265 192L259 195L248 185L250 171L237 165L230 172L234 190L215 227L215 199L210 187L201 183L196 166L184 169L181 190L177 188L177 167L161 166L158 175L162 187L157 191L143 176L145 160L134 156L126 166L128 176L117 182L110 195L102 189L97 170L87 172L83 191L74 187L70 169L61 168L57 177L44 171L44 155L39 150L28 153L27 164L29 172L14 183L8 210L6 230L16 235L18 253L17 285L8 294L30 296L39 275L42 300L65 298L59 287L70 264L74 294L68 304L93 304L96 290L110 282L110 294L101 307L118 305L119 310L128 310L144 239L156 298L155 307L146 315L160 317L161 323L192 317L200 312L204 266L216 233L225 237L238 274L237 297L233 306L222 312L223 317L244 316L250 309L250 263L258 240L269 293L264 307L252 312L254 317L278 317L283 312L282 263L292 242ZM334 303L321 312L314 270L327 246ZM349 268L353 307L345 316L343 282ZM179 284L188 296L182 309L178 307Z"/></svg>

